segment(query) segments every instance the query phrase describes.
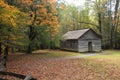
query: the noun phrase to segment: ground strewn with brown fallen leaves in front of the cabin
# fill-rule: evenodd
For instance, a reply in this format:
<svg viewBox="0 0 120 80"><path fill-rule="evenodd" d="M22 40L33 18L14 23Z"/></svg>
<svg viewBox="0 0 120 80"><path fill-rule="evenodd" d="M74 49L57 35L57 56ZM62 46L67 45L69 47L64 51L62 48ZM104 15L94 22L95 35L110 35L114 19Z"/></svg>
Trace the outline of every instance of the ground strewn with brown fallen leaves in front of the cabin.
<svg viewBox="0 0 120 80"><path fill-rule="evenodd" d="M52 53L53 57L50 55L46 57L48 52L45 51L31 55L10 55L7 71L24 75L31 73L37 80L120 80L120 65L111 63L111 60L107 61L104 58L54 60L58 54L54 51ZM62 51L60 53L60 57L66 55ZM9 80L14 79L9 77Z"/></svg>

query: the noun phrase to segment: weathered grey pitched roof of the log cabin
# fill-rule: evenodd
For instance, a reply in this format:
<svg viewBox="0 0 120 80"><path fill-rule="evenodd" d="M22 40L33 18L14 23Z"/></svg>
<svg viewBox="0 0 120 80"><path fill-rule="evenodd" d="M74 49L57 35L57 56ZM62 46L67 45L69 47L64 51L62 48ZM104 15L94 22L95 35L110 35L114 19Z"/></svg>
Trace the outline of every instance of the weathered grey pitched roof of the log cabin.
<svg viewBox="0 0 120 80"><path fill-rule="evenodd" d="M68 31L67 33L65 33L62 36L63 40L72 40L72 39L78 39L80 38L82 35L84 35L86 32L88 32L89 30L92 30L90 28L87 29L81 29L81 30L74 30L74 31ZM93 30L92 30L93 31ZM94 32L94 31L93 31ZM94 32L96 33L96 32ZM97 33L96 33L97 34ZM97 34L98 36L100 36L99 34Z"/></svg>

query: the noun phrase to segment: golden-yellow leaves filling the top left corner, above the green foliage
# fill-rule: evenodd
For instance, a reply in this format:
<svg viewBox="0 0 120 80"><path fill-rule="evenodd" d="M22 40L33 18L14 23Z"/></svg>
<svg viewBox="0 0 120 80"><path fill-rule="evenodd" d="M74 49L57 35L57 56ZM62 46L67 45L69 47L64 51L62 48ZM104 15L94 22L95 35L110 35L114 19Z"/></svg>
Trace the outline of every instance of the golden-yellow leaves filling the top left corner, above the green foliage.
<svg viewBox="0 0 120 80"><path fill-rule="evenodd" d="M18 17L25 15L14 6L10 6L5 3L3 0L0 0L0 7L0 24L2 25L16 27Z"/></svg>

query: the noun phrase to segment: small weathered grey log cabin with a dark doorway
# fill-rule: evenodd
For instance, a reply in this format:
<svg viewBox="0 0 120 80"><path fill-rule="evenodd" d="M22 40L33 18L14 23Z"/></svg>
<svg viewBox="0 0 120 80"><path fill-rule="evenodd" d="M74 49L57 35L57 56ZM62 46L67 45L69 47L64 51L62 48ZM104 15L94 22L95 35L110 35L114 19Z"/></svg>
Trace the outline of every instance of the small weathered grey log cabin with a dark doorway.
<svg viewBox="0 0 120 80"><path fill-rule="evenodd" d="M101 51L101 35L93 29L68 31L60 40L60 48L77 52Z"/></svg>

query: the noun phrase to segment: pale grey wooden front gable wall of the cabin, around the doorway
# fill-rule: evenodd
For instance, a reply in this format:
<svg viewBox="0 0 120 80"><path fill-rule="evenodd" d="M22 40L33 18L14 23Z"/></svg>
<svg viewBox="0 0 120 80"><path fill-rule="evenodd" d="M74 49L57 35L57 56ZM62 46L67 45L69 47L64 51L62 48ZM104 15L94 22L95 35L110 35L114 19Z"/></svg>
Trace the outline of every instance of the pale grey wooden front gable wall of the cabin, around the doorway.
<svg viewBox="0 0 120 80"><path fill-rule="evenodd" d="M78 51L79 52L89 51L88 50L89 42L92 43L93 51L101 51L101 38L91 30L78 39Z"/></svg>

